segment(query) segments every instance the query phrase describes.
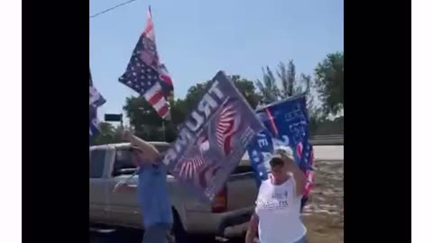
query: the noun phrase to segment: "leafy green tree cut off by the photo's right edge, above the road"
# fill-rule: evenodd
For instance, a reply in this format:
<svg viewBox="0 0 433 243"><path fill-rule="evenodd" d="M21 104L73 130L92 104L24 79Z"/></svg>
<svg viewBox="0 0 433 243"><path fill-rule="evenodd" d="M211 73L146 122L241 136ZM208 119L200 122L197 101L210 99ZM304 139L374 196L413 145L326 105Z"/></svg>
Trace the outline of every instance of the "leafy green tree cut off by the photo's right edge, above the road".
<svg viewBox="0 0 433 243"><path fill-rule="evenodd" d="M328 54L315 68L318 98L326 114L344 109L344 64L344 53L335 52Z"/></svg>

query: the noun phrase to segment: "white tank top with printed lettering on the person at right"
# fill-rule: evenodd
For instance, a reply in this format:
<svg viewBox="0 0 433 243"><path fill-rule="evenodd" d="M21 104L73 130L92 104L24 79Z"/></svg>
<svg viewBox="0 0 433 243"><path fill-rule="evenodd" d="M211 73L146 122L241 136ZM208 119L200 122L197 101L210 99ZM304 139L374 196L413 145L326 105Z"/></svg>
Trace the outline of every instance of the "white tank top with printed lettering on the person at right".
<svg viewBox="0 0 433 243"><path fill-rule="evenodd" d="M290 243L305 236L307 229L300 220L301 198L296 196L292 175L283 184L272 184L271 179L261 184L255 207L260 243Z"/></svg>

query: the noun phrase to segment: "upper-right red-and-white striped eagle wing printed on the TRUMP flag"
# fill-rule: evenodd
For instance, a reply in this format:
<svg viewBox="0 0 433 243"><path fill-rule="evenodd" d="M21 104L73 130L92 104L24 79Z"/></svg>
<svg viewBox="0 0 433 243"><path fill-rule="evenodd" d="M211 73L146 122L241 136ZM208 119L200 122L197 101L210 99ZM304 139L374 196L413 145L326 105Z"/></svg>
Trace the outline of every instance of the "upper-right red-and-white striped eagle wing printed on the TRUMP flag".
<svg viewBox="0 0 433 243"><path fill-rule="evenodd" d="M226 102L218 116L217 121L217 143L227 156L231 148L233 135L235 134L236 110L232 103Z"/></svg>

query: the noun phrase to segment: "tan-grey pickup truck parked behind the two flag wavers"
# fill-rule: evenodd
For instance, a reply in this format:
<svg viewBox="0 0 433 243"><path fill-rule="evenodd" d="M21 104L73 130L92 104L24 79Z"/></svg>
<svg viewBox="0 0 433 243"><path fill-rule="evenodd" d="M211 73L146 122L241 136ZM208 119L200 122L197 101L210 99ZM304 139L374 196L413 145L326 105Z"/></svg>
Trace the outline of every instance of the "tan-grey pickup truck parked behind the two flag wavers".
<svg viewBox="0 0 433 243"><path fill-rule="evenodd" d="M166 142L151 143L161 153L170 147ZM129 148L129 143L90 147L90 224L143 229L141 215L146 212L141 211L138 204L138 176L134 175L135 167ZM121 186L114 190L116 184L125 181L127 183L121 183ZM247 157L243 158L229 176L226 186L213 202L199 202L170 174L167 175L167 183L174 217L170 232L172 239L178 242L207 242L207 239L216 236L243 237L247 222L253 213L257 194L257 186Z"/></svg>

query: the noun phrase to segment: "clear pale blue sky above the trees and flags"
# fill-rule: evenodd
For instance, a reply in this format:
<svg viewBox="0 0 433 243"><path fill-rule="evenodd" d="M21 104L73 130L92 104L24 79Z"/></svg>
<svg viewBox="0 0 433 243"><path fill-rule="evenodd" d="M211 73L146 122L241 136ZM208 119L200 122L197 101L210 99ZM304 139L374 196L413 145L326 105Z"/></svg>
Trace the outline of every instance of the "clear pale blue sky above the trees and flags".
<svg viewBox="0 0 433 243"><path fill-rule="evenodd" d="M126 0L90 0L96 14ZM174 95L218 70L250 80L262 67L294 60L297 73L313 74L328 53L343 51L343 0L137 0L90 19L90 70L106 98L104 113L122 112L138 94L118 82L152 6L157 49L173 78Z"/></svg>

